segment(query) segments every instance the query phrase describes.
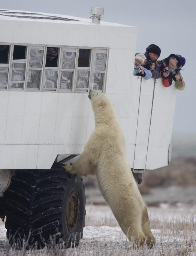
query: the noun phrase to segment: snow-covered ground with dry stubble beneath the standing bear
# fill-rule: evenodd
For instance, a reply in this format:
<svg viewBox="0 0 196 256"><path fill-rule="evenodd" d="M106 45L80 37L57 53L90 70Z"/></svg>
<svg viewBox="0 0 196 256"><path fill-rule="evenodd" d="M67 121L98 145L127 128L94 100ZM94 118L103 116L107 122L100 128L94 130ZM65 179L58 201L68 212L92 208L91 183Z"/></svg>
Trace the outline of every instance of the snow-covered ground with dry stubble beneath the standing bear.
<svg viewBox="0 0 196 256"><path fill-rule="evenodd" d="M156 246L142 250L132 248L108 205L87 205L86 210L83 238L77 248L67 249L68 254L64 255L196 255L196 205L178 204L171 207L161 204L159 208L148 207ZM0 252L4 252L6 243L6 229L1 222ZM62 250L57 251L57 255L61 255ZM27 255L38 255L34 253L28 251ZM37 253L47 255L48 251L44 249ZM7 255L15 254L10 250Z"/></svg>

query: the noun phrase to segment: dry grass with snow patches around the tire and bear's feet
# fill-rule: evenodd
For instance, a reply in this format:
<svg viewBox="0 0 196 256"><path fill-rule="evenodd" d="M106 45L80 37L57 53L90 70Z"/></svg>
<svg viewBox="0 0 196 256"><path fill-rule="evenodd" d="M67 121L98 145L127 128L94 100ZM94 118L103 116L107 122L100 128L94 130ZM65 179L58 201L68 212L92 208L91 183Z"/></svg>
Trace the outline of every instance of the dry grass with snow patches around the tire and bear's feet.
<svg viewBox="0 0 196 256"><path fill-rule="evenodd" d="M23 250L9 248L7 244L0 246L0 255L7 256L176 256L196 255L196 224L194 216L175 215L169 219L167 216L150 216L151 228L156 237L153 249L133 249L132 244L126 240L125 235L117 226L113 216L101 218L102 223L93 221L91 210L86 219L84 236L76 248L64 249L63 244L45 247L42 250ZM107 225L100 226L100 225Z"/></svg>

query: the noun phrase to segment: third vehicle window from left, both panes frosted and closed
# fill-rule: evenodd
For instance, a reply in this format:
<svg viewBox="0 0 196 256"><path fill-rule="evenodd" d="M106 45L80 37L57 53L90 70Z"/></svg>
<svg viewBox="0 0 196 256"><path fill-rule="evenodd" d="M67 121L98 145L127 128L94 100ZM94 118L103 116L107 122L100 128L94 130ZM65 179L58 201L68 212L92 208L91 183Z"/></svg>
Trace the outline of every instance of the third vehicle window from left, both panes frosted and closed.
<svg viewBox="0 0 196 256"><path fill-rule="evenodd" d="M27 89L40 88L40 78L42 75L43 64L43 51L43 46L31 47L30 49Z"/></svg>

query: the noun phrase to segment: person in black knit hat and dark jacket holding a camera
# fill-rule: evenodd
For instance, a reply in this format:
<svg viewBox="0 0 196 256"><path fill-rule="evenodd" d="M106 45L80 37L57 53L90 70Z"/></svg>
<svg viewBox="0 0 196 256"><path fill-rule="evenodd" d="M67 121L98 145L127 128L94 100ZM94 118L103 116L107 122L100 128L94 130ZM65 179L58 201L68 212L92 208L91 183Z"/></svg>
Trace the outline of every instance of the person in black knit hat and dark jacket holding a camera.
<svg viewBox="0 0 196 256"><path fill-rule="evenodd" d="M159 58L161 54L161 49L159 46L151 44L146 48L145 52L145 61L144 61L144 67L151 71L152 78L157 79L160 78L161 72L159 69L159 64L157 63L157 59Z"/></svg>

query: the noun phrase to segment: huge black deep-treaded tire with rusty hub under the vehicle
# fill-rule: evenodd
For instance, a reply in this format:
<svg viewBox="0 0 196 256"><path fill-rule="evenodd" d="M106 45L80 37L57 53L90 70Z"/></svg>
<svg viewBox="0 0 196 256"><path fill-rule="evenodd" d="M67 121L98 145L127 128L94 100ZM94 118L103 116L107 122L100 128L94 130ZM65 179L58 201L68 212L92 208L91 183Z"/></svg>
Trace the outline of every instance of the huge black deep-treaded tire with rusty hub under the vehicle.
<svg viewBox="0 0 196 256"><path fill-rule="evenodd" d="M17 170L6 191L7 239L21 248L64 242L77 246L85 225L82 179L61 167Z"/></svg>

